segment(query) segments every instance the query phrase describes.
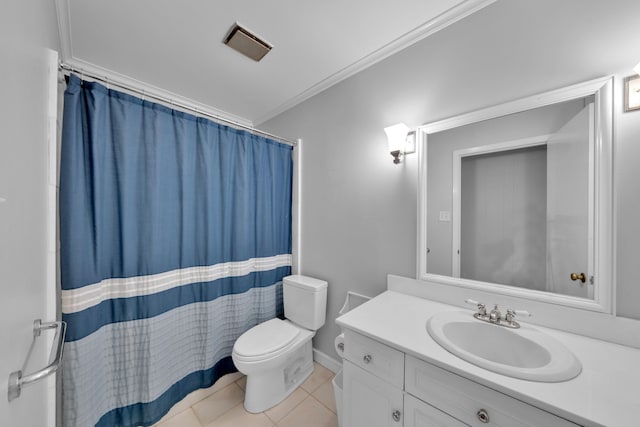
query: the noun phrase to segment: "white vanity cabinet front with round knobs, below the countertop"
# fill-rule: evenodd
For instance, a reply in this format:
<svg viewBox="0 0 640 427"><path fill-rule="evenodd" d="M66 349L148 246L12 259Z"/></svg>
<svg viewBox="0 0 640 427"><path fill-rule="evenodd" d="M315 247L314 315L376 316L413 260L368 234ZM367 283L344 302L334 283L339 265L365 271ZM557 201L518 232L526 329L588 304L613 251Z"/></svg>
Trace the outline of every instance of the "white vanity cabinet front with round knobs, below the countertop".
<svg viewBox="0 0 640 427"><path fill-rule="evenodd" d="M344 427L577 425L349 329L344 355Z"/></svg>

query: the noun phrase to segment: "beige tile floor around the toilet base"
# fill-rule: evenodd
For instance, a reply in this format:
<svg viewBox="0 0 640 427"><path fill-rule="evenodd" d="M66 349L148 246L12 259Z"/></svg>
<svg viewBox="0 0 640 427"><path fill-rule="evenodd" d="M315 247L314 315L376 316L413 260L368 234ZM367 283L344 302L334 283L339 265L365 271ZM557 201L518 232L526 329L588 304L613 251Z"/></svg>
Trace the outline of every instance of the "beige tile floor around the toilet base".
<svg viewBox="0 0 640 427"><path fill-rule="evenodd" d="M251 414L242 403L245 376L225 375L212 387L189 394L154 427L337 427L333 377L333 372L314 363L311 376L289 397Z"/></svg>

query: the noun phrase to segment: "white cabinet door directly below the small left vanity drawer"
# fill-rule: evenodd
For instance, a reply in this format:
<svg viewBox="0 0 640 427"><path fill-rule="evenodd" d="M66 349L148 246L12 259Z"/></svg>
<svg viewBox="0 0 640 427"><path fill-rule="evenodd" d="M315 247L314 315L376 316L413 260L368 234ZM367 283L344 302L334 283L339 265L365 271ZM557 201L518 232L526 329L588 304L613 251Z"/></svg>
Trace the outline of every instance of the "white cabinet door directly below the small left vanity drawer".
<svg viewBox="0 0 640 427"><path fill-rule="evenodd" d="M402 390L344 361L344 427L402 427Z"/></svg>

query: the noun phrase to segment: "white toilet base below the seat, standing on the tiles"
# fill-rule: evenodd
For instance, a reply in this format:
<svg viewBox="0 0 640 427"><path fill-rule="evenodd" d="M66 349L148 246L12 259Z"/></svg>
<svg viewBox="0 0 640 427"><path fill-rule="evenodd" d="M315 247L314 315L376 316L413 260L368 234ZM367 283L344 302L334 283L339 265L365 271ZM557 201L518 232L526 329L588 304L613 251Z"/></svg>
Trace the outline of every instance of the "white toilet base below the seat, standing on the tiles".
<svg viewBox="0 0 640 427"><path fill-rule="evenodd" d="M264 412L282 402L313 372L311 339L293 351L276 368L247 375L244 408Z"/></svg>

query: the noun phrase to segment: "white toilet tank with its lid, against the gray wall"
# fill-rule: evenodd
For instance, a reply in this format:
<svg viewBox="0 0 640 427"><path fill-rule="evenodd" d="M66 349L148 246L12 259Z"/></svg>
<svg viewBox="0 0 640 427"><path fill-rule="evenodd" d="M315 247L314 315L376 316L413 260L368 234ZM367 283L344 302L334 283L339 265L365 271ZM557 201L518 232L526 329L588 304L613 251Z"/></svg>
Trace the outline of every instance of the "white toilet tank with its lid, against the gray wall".
<svg viewBox="0 0 640 427"><path fill-rule="evenodd" d="M282 282L284 316L303 328L320 329L327 312L327 282L301 275Z"/></svg>

